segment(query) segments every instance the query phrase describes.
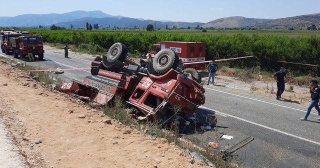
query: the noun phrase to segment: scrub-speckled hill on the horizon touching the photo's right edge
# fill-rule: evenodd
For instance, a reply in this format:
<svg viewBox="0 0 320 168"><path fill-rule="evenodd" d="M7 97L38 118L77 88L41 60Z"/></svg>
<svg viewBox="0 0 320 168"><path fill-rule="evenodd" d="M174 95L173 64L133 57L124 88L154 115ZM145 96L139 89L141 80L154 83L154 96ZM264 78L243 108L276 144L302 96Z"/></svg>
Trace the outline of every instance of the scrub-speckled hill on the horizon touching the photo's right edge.
<svg viewBox="0 0 320 168"><path fill-rule="evenodd" d="M264 23L255 24L254 26L257 28L288 29L292 27L294 29L306 29L312 24L316 27L320 27L320 13L278 18Z"/></svg>

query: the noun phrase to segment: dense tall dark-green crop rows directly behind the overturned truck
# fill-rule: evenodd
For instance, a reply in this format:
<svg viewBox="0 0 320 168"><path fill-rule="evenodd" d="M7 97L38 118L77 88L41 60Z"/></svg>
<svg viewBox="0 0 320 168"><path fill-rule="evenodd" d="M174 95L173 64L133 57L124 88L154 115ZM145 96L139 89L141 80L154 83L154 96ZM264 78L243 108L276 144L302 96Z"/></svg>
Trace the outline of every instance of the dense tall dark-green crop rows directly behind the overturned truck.
<svg viewBox="0 0 320 168"><path fill-rule="evenodd" d="M33 32L32 32L33 31ZM276 70L286 66L294 72L317 75L320 68L295 64L283 64L277 60L319 64L320 37L287 37L277 35L211 35L191 33L150 33L150 32L96 32L59 30L50 31L35 29L31 33L39 33L48 42L71 43L75 45L92 44L105 51L115 42L122 42L129 52L142 52L158 41L190 41L206 43L206 60L254 55L248 59L228 61L229 66L256 67L264 70Z"/></svg>

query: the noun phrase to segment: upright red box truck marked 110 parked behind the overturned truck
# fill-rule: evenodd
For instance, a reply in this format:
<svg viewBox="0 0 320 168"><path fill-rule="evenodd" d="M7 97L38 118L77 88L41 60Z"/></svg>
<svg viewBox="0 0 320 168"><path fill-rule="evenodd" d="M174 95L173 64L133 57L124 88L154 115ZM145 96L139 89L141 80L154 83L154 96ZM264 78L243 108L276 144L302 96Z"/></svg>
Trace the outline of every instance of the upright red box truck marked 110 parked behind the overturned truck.
<svg viewBox="0 0 320 168"><path fill-rule="evenodd" d="M205 46L204 42L160 41L151 46L147 56L154 57L161 49L169 48L182 59L183 63L188 63L185 67L204 69L204 63L196 62L205 60Z"/></svg>

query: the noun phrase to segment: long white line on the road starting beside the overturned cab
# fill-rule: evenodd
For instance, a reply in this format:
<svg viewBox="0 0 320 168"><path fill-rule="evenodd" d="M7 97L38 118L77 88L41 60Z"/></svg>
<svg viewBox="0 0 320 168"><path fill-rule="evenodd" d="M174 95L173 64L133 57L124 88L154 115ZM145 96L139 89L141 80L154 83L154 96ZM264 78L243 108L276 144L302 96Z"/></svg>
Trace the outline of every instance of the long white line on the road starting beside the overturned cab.
<svg viewBox="0 0 320 168"><path fill-rule="evenodd" d="M320 142L317 142L317 141L313 141L313 140L310 140L310 139L307 139L307 138L304 138L304 137L301 137L301 136L297 136L297 135L294 135L294 134L291 134L291 133L288 133L288 132L284 132L282 130L271 128L269 126L265 126L265 125L262 125L262 124L259 124L259 123L255 123L255 122L252 122L252 121L249 121L249 120L246 120L246 119L234 116L234 115L230 115L230 114L227 114L227 113L224 113L224 112L216 111L216 110L213 110L211 108L208 108L208 107L205 107L205 106L202 106L202 105L200 107L215 111L216 114L219 114L219 115L222 115L222 116L223 115L229 116L229 117L232 117L232 118L235 118L235 119L239 119L239 120L244 121L244 122L248 122L248 123L251 123L251 124L254 124L254 125L257 125L257 126L261 126L263 128L266 128L266 129L270 129L270 130L273 130L273 131L276 131L276 132L279 132L279 133L282 133L282 134L285 134L285 135L288 135L288 136L292 136L292 137L298 138L300 140L305 140L305 141L320 145Z"/></svg>

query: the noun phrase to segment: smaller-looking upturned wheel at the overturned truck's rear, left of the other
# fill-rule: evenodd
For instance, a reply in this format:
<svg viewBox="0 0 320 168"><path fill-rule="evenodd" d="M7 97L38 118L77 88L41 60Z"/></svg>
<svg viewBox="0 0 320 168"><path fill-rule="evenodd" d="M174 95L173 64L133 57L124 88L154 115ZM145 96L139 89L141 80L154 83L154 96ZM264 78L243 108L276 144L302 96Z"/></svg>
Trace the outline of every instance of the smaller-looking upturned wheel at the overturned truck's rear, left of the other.
<svg viewBox="0 0 320 168"><path fill-rule="evenodd" d="M115 62L116 60L124 61L126 53L126 46L120 42L116 42L109 48L108 53L106 54L106 59L109 62Z"/></svg>

